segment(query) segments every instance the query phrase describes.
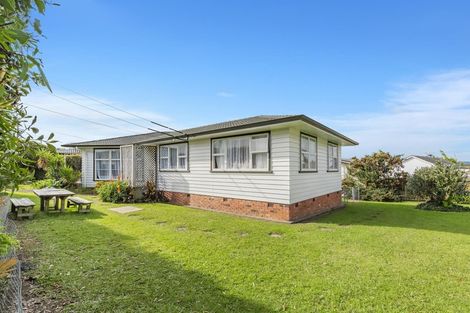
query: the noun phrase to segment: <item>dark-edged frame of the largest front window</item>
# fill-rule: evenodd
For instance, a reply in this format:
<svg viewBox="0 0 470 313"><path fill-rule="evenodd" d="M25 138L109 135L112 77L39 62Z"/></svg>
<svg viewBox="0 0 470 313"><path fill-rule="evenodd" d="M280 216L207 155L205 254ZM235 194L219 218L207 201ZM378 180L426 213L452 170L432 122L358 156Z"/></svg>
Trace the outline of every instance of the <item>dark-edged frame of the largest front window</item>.
<svg viewBox="0 0 470 313"><path fill-rule="evenodd" d="M268 149L266 152L251 152L251 138L249 140L249 149L250 149L250 166L252 165L252 155L253 154L256 154L256 153L267 153L267 168L266 169L260 169L260 170L257 170L257 169L243 169L243 170L231 170L231 169L214 169L214 141L215 140L221 140L221 139L228 139L228 138L235 138L235 137L253 137L253 136L257 136L257 135L267 135L267 140L268 140ZM226 154L221 154L221 153L218 153L216 155L223 155L224 156L224 160L225 160L225 157L226 157ZM210 145L210 172L211 173L272 173L272 170L271 170L271 132L270 131L262 131L262 132L256 132L256 133L247 133L247 134L238 134L238 135L231 135L231 136L221 136L221 137L214 137L214 138L211 138L211 145Z"/></svg>

